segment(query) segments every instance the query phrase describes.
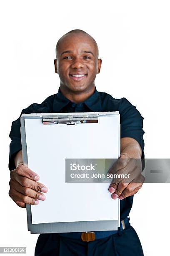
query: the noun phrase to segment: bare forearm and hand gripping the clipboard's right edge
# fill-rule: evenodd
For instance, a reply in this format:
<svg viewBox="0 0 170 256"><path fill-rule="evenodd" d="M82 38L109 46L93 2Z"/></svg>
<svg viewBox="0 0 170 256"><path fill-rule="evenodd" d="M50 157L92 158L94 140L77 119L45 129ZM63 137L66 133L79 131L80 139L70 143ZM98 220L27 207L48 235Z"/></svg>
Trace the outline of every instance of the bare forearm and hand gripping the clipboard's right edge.
<svg viewBox="0 0 170 256"><path fill-rule="evenodd" d="M112 194L112 199L119 198L122 200L138 192L143 185L144 177L141 174L142 162L140 158L142 156L142 150L138 141L128 137L121 138L120 152L120 158L109 172L112 174L130 174L133 178L130 181L123 178L113 179L109 187L109 192Z"/></svg>

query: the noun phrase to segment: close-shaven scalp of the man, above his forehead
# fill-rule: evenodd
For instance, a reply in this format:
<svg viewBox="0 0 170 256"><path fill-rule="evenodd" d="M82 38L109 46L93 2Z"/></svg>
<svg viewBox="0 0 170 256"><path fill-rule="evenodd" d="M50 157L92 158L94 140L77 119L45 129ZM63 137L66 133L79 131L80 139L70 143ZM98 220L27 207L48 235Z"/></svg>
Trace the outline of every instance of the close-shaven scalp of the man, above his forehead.
<svg viewBox="0 0 170 256"><path fill-rule="evenodd" d="M88 40L91 41L91 43L95 46L96 48L96 52L97 52L97 58L98 58L98 55L99 55L99 50L98 50L98 46L97 46L97 43L95 41L94 38L92 38L92 36L90 36L88 33L86 33L85 31L81 30L81 29L74 29L74 30L71 30L69 32L67 32L65 35L63 35L58 41L57 41L57 45L56 45L56 48L55 48L55 52L56 52L56 57L58 57L58 52L59 52L59 48L60 48L60 45L63 43L63 41L65 40L69 40L69 37L72 36L72 37L81 37L82 40L83 40L83 37L87 38Z"/></svg>

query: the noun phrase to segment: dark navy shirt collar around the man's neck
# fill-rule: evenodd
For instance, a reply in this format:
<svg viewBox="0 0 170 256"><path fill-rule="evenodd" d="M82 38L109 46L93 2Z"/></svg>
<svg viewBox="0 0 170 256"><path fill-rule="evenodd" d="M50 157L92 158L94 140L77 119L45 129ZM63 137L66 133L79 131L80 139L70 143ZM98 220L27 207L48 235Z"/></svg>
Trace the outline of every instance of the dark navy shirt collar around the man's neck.
<svg viewBox="0 0 170 256"><path fill-rule="evenodd" d="M71 102L69 99L67 99L60 91L60 87L58 89L58 92L54 98L53 102L53 113L59 113L62 108L64 108L69 102ZM92 112L100 112L101 111L101 99L100 94L97 92L96 87L94 93L87 98L84 102L85 105L92 110ZM78 104L77 104L78 105Z"/></svg>

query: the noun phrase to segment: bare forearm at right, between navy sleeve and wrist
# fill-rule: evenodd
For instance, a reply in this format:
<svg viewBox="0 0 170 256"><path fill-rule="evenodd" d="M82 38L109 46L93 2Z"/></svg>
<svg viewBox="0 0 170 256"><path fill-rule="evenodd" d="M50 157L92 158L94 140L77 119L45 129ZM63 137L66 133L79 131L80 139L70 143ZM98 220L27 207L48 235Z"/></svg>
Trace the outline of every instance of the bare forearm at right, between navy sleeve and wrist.
<svg viewBox="0 0 170 256"><path fill-rule="evenodd" d="M121 138L120 140L120 152L127 153L130 158L140 159L142 156L142 150L138 141L133 138Z"/></svg>

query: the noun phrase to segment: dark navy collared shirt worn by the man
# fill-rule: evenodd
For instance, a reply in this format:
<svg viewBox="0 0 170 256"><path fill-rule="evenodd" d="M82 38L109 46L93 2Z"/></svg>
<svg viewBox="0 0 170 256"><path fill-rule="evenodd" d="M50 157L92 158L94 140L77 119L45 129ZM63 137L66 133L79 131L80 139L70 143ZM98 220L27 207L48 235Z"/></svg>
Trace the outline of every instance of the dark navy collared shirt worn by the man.
<svg viewBox="0 0 170 256"><path fill-rule="evenodd" d="M70 113L70 112L100 112L119 111L120 137L134 138L140 144L144 158L143 117L139 111L125 98L115 99L106 92L95 92L84 102L76 104L62 95L60 88L57 94L47 97L41 104L33 103L22 110L21 114L29 113ZM10 171L15 169L14 156L21 150L20 118L13 121L10 131ZM120 200L120 220L126 218L133 204L133 196Z"/></svg>

